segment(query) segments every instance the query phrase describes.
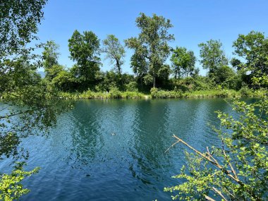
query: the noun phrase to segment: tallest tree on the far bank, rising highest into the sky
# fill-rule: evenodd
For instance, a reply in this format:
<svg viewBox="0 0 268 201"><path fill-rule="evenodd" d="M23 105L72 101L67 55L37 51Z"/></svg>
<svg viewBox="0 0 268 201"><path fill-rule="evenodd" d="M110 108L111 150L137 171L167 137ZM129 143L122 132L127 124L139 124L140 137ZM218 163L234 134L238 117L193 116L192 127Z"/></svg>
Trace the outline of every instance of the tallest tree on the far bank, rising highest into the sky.
<svg viewBox="0 0 268 201"><path fill-rule="evenodd" d="M140 34L138 37L126 39L125 43L127 47L135 50L135 58L142 60L139 63L147 63L148 73L152 75L152 84L155 87L159 69L164 66L170 54L171 48L168 42L174 37L169 34L168 30L173 26L170 20L166 20L163 16L153 14L150 17L145 16L145 13L140 13L136 19L136 25L140 29Z"/></svg>

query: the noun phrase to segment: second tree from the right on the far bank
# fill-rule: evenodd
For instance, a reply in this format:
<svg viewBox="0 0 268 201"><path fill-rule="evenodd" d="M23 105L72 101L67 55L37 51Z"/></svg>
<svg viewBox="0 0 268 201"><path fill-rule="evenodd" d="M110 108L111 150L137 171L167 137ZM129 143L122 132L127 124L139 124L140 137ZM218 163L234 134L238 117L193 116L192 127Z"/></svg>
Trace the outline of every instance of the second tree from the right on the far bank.
<svg viewBox="0 0 268 201"><path fill-rule="evenodd" d="M209 70L209 75L213 75L221 66L228 65L224 51L221 49L221 42L219 40L210 39L206 43L198 44L200 47L200 63L204 69Z"/></svg>

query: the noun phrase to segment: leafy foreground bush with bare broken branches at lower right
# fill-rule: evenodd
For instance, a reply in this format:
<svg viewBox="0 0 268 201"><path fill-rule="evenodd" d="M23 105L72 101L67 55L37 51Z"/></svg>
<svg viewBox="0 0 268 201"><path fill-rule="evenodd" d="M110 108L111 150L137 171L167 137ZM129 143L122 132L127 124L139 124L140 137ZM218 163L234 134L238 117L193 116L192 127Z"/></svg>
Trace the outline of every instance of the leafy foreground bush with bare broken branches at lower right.
<svg viewBox="0 0 268 201"><path fill-rule="evenodd" d="M268 81L267 76L261 80ZM257 81L260 81L258 79ZM180 200L265 200L268 190L267 91L252 104L234 100L238 117L218 111L221 127L214 128L221 147L199 152L174 135L194 153L186 152L187 167L174 178L183 183L165 188Z"/></svg>

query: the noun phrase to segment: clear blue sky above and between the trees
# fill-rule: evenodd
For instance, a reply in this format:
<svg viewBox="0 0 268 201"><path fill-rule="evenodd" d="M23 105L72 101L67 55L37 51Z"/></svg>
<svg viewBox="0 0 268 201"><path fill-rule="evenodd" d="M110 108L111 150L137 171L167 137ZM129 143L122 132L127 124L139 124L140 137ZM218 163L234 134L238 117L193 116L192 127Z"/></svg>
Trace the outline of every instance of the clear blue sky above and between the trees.
<svg viewBox="0 0 268 201"><path fill-rule="evenodd" d="M105 39L114 34L123 39L138 35L135 18L139 13L152 16L156 13L171 20L170 33L175 36L171 47L186 47L193 50L199 59L198 44L209 39L220 39L229 59L233 57L232 43L238 34L250 30L268 35L268 0L48 0L44 8L44 20L39 26L41 42L54 40L60 46L59 63L70 68L68 39L77 29L91 30ZM132 50L127 49L123 72L133 73L130 68ZM112 66L102 57L102 71ZM169 63L169 61L168 61ZM201 74L205 71L200 67Z"/></svg>

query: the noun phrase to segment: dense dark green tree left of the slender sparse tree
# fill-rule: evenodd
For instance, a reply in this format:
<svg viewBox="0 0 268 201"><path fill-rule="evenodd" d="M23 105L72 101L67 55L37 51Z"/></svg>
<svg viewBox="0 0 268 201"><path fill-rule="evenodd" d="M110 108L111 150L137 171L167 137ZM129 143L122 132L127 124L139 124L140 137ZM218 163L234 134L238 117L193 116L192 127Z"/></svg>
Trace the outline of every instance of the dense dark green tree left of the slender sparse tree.
<svg viewBox="0 0 268 201"><path fill-rule="evenodd" d="M80 34L75 30L68 42L71 59L77 62L73 69L74 78L80 83L80 89L87 90L95 83L95 75L99 71L99 39L92 31Z"/></svg>

